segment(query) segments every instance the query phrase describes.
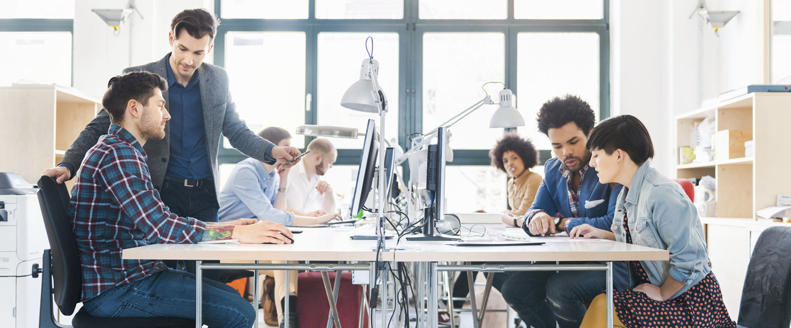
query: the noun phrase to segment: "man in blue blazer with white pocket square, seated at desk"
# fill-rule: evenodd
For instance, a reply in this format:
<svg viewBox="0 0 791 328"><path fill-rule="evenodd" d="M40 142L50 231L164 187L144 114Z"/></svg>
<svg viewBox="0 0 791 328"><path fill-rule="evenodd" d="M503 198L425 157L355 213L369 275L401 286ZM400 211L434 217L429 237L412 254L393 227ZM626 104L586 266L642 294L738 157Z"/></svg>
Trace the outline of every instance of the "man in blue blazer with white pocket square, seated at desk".
<svg viewBox="0 0 791 328"><path fill-rule="evenodd" d="M582 223L609 229L621 186L600 184L588 166L585 143L596 124L590 105L573 95L554 97L543 104L537 121L555 157L544 163L536 200L517 224L534 236L568 232ZM603 271L522 271L511 274L500 291L528 326L576 328L585 302L605 289L604 281Z"/></svg>

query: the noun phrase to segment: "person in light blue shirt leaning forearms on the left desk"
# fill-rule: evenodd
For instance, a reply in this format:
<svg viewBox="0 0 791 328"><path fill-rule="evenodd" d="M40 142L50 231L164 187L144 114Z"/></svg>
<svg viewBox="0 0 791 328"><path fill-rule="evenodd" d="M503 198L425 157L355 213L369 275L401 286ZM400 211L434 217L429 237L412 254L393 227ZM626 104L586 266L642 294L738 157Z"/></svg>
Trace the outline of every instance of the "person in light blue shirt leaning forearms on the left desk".
<svg viewBox="0 0 791 328"><path fill-rule="evenodd" d="M291 144L291 134L283 128L265 128L259 135L278 146ZM286 211L289 170L280 164L269 165L255 158L238 162L218 197L220 221L252 218L286 226L303 226L339 219L335 213L314 217Z"/></svg>

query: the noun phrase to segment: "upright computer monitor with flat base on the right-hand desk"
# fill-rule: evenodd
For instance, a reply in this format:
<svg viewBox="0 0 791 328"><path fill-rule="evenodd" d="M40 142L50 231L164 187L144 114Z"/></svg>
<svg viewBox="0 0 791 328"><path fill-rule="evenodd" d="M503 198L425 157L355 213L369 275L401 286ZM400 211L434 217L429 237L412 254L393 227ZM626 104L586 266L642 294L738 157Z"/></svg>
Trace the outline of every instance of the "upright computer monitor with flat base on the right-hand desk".
<svg viewBox="0 0 791 328"><path fill-rule="evenodd" d="M426 190L432 193L431 205L423 214L423 235L407 240L458 240L459 238L435 235L436 224L445 218L445 160L447 156L448 129L437 128L437 144L429 145L426 160Z"/></svg>

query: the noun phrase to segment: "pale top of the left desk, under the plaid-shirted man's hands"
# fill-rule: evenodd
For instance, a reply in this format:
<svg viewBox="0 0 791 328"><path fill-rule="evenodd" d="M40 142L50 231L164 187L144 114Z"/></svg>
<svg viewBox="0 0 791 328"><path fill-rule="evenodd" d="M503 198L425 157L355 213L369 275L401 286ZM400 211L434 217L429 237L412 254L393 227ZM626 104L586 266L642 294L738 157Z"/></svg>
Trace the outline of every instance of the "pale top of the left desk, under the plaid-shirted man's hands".
<svg viewBox="0 0 791 328"><path fill-rule="evenodd" d="M376 240L352 240L351 227L293 228L294 243L277 244L156 244L123 250L124 259L160 260L274 260L274 261L376 261ZM382 261L393 261L383 252Z"/></svg>

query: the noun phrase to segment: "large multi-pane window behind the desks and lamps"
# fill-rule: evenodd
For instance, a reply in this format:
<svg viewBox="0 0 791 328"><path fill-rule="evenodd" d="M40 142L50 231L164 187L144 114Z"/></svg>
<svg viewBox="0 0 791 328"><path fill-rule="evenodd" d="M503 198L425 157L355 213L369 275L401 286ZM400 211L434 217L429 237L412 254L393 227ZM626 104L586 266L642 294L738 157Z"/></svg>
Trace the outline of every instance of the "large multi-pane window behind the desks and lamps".
<svg viewBox="0 0 791 328"><path fill-rule="evenodd" d="M574 93L599 117L609 116L607 0L215 1L222 21L215 63L229 71L237 108L254 130L279 125L293 132L300 124L362 130L368 119L378 125L377 115L340 106L368 56L368 36L390 105L385 136L403 149L411 136L486 94L497 101L502 85L482 89L486 82L503 82L516 95L526 124L517 131L534 140L542 162L551 154L536 131L544 101ZM495 109L484 105L450 128L448 179L464 181L448 194L451 211L505 208L505 174L488 157L504 132L488 128ZM297 147L312 139L294 137ZM339 158L327 178L343 191L354 185L362 140L331 141ZM221 150L221 162L243 158Z"/></svg>

